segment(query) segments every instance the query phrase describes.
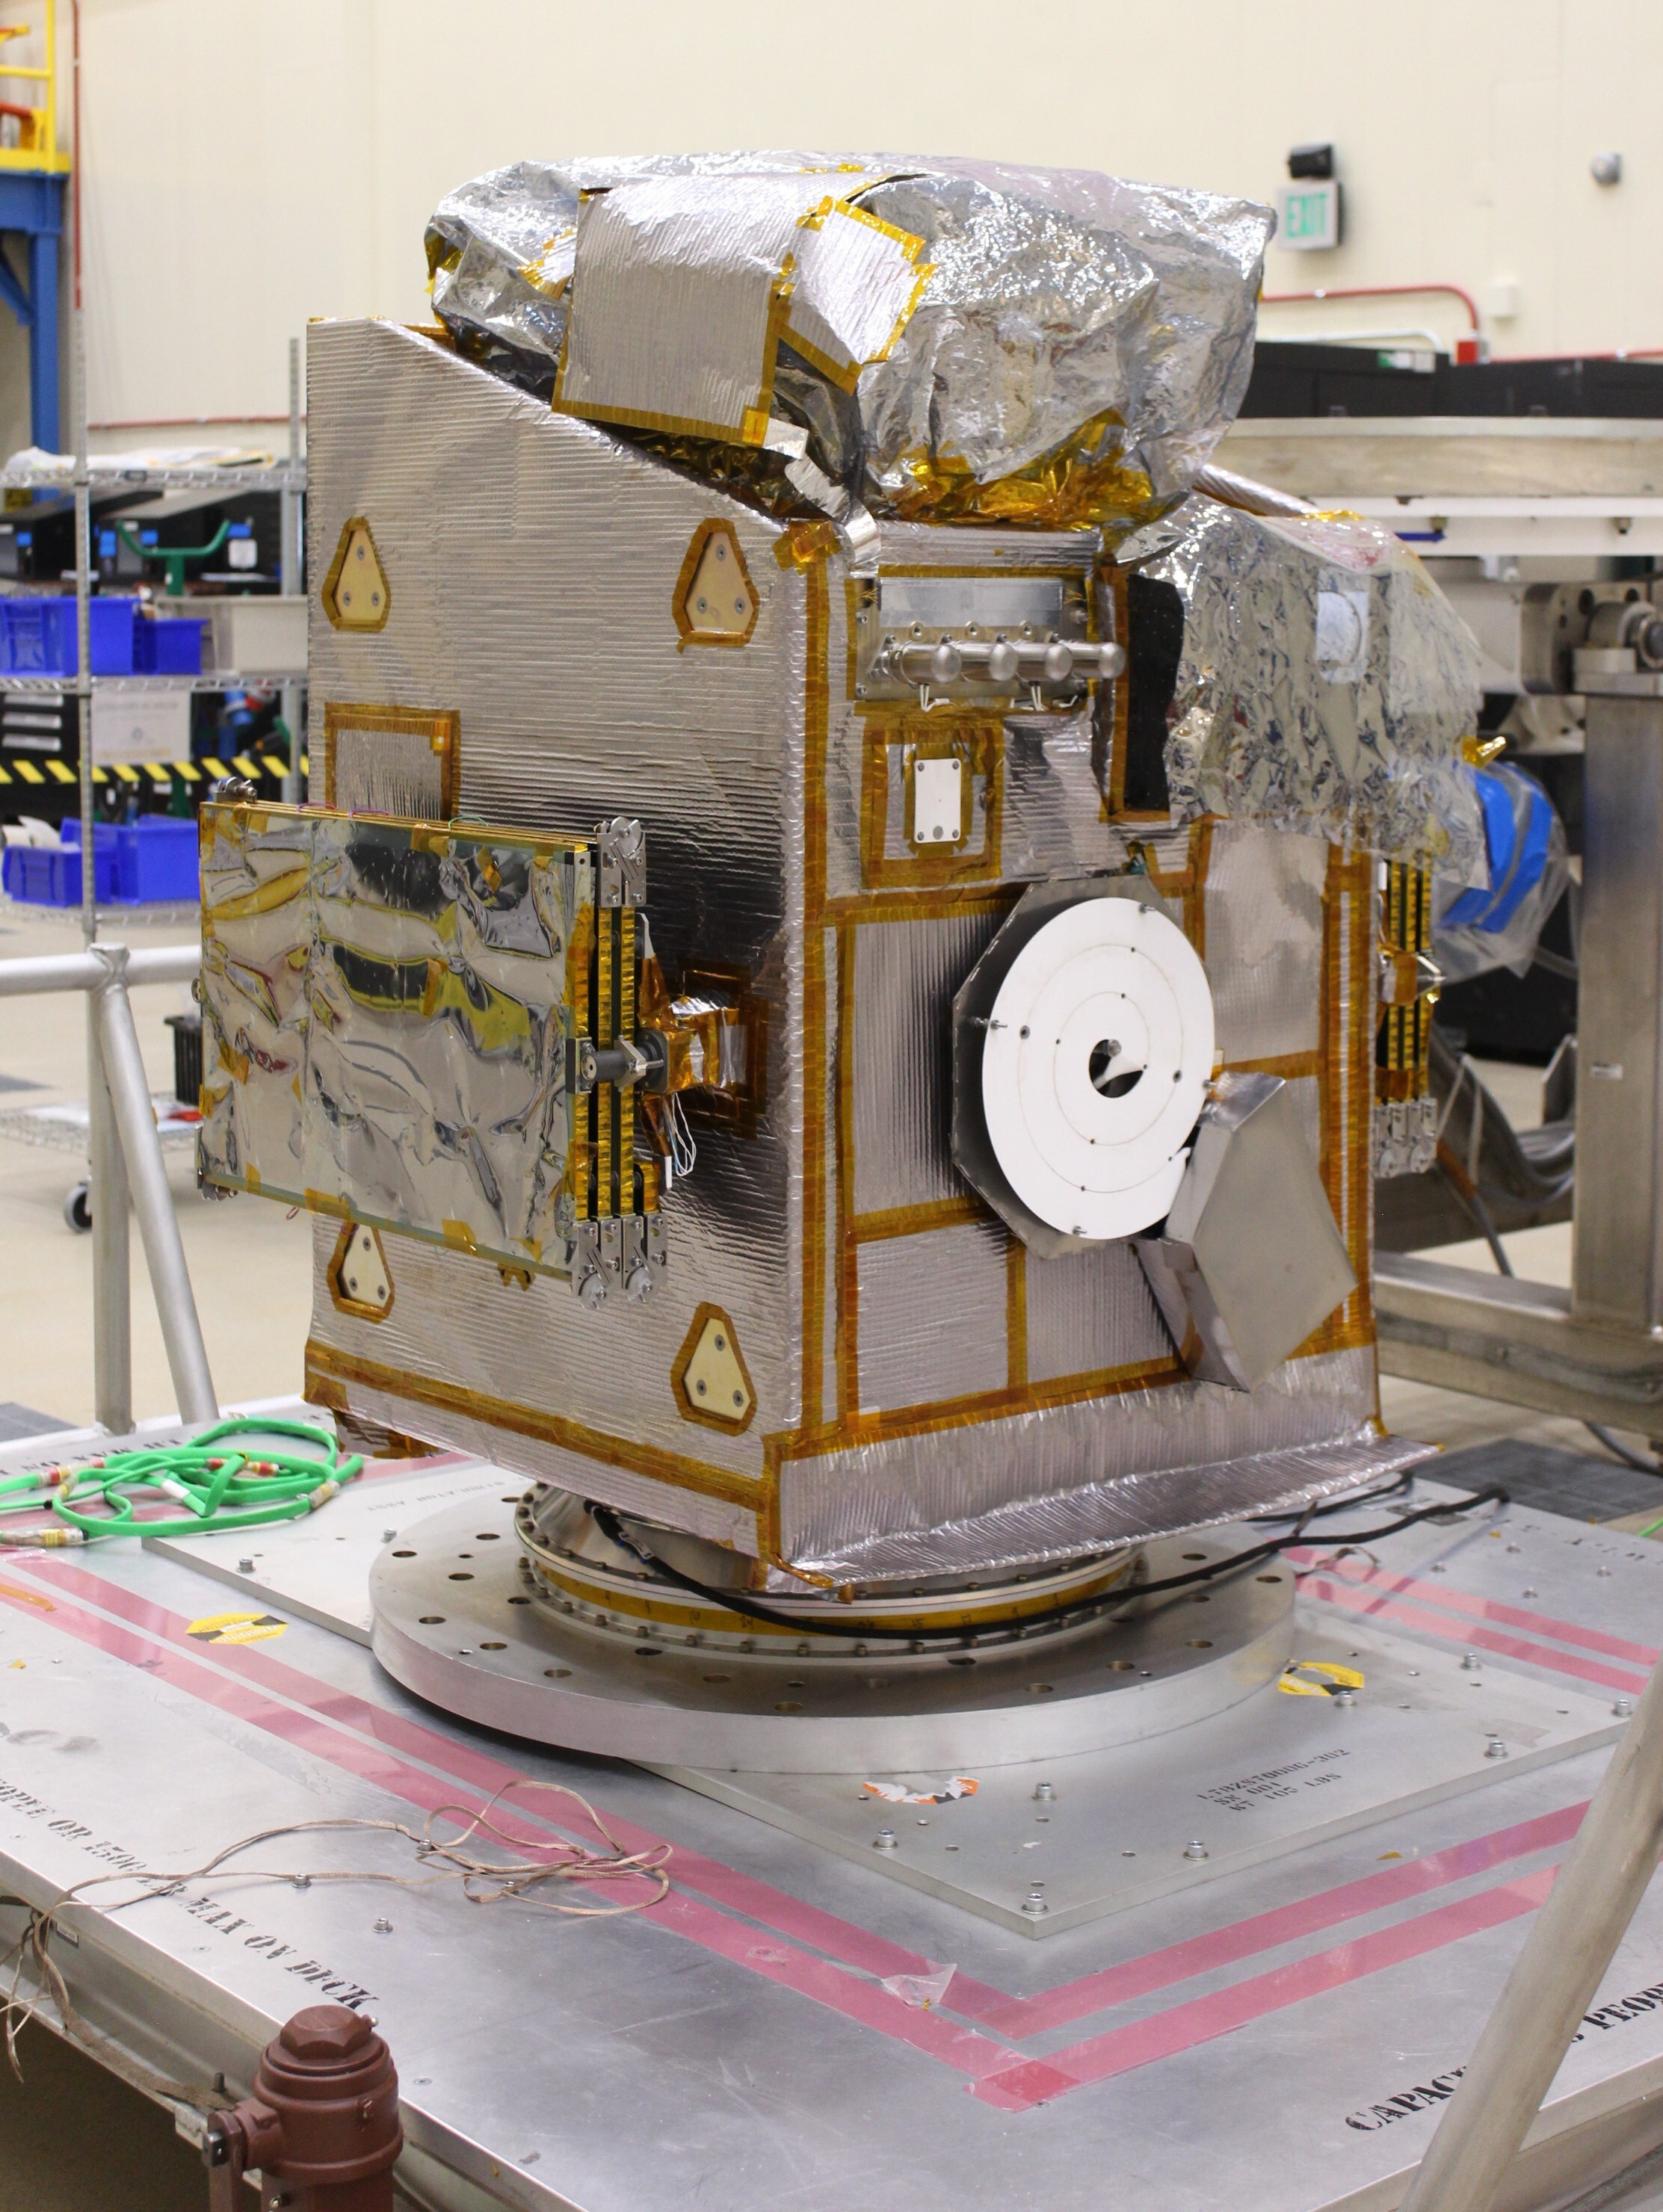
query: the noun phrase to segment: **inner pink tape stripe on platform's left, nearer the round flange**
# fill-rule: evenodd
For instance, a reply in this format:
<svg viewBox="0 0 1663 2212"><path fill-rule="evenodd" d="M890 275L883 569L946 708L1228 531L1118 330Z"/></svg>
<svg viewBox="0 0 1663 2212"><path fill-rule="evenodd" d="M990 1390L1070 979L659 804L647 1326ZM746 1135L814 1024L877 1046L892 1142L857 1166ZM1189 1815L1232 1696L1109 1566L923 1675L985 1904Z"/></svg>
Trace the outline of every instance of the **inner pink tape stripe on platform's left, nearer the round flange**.
<svg viewBox="0 0 1663 2212"><path fill-rule="evenodd" d="M161 1637L166 1644L175 1644L192 1655L212 1657L212 1666L226 1668L228 1672L241 1674L245 1681L263 1683L279 1697L294 1699L323 1719L334 1721L341 1728L354 1728L360 1734L372 1736L376 1743L385 1743L391 1750L407 1752L411 1759L420 1759L442 1774L456 1774L458 1781L473 1783L487 1796L502 1790L506 1783L526 1781L522 1767L511 1767L500 1759L491 1759L487 1752L473 1745L458 1743L453 1736L442 1736L433 1728L425 1728L420 1721L409 1721L405 1714L389 1712L385 1705L372 1705L349 1690L336 1690L332 1683L323 1683L316 1674L303 1674L299 1668L287 1666L283 1659L259 1650L250 1644L215 1644L203 1650L201 1644L192 1641L190 1624L179 1613L170 1613L166 1606L157 1606L150 1599L135 1597L133 1590L122 1588L117 1582L106 1582L102 1575L93 1575L84 1566L42 1553L38 1559L27 1562L42 1582L51 1582L55 1588L73 1590L88 1604L100 1606L106 1613L115 1613L135 1628L144 1628L148 1635ZM526 1807L517 1807L524 1818L535 1820ZM646 1827L637 1827L632 1820L606 1812L606 1825L630 1851L646 1851L663 1843L663 1836L655 1836ZM858 1966L865 1973L887 1975L887 1973L927 1973L929 1960L920 1958L916 1951L907 1951L900 1944L887 1942L882 1936L871 1936L867 1929L858 1929L847 1920L838 1920L836 1913L825 1913L814 1905L803 1905L798 1898L789 1898L767 1882L752 1880L739 1874L734 1867L723 1867L721 1860L703 1858L699 1851L690 1851L686 1845L674 1847L674 1871L677 1882L688 1889L697 1889L701 1896L712 1898L717 1905L725 1905L730 1911L745 1913L750 1920L759 1920L763 1927L772 1927L776 1933L787 1936L794 1942L803 1942L814 1951L827 1951L832 1958L840 1958L849 1966ZM980 1984L969 1982L969 1978L955 1978L953 1997L958 2000L960 1986L980 1989ZM989 1995L1000 1995L989 1991Z"/></svg>

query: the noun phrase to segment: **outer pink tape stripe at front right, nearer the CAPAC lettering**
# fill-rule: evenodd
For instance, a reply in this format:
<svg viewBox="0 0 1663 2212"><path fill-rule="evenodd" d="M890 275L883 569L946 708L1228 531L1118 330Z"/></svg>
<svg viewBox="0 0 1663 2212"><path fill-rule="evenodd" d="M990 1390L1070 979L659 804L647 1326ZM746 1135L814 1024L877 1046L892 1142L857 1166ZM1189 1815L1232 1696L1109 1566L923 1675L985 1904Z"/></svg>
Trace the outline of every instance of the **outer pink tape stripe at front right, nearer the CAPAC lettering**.
<svg viewBox="0 0 1663 2212"><path fill-rule="evenodd" d="M1541 1867L1517 1882L1499 1882L1475 1898L1440 1905L1418 1920L1400 1920L1395 1927L1336 1944L1331 1951L1318 1951L1291 1966L1278 1966L1190 2004L1174 2004L1172 2011L1154 2013L1150 2020L1134 2020L1106 2035L1092 2035L1084 2044L1053 2051L1048 2059L1024 2059L1008 2073L984 2075L975 2084L975 2095L1006 2112L1024 2112L1081 2081L1110 2081L1137 2066L1174 2057L1179 2051L1194 2051L1196 2044L1230 2035L1232 2028L1247 2026L1249 2020L1280 2013L1289 2004L1305 2004L1307 1997L1320 1997L1329 1989L1362 1980L1362 1975L1402 1966L1406 1960L1424 1958L1426 1951L1460 1942L1464 1936L1477 1936L1517 1920L1521 1913L1533 1913L1548 1896L1557 1871L1557 1867Z"/></svg>

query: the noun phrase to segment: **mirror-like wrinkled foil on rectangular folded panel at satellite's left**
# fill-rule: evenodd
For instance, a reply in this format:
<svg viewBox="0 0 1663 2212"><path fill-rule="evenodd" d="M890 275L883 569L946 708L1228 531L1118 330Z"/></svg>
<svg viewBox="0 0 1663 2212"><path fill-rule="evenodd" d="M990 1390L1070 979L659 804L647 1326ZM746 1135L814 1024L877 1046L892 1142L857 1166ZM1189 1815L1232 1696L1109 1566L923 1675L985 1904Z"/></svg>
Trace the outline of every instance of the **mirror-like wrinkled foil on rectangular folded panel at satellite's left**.
<svg viewBox="0 0 1663 2212"><path fill-rule="evenodd" d="M557 1263L586 849L203 807L208 1181Z"/></svg>

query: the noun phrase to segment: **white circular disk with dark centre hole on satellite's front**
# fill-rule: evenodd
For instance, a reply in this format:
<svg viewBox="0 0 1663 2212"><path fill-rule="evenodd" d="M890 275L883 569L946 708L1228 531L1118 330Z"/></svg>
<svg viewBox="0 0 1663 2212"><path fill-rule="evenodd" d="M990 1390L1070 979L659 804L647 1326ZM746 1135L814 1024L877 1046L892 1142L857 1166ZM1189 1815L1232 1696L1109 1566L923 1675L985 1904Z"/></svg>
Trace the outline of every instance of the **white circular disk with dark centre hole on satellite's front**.
<svg viewBox="0 0 1663 2212"><path fill-rule="evenodd" d="M993 1157L1070 1237L1134 1237L1176 1197L1212 1079L1212 991L1154 907L1084 898L1011 962L982 1048Z"/></svg>

